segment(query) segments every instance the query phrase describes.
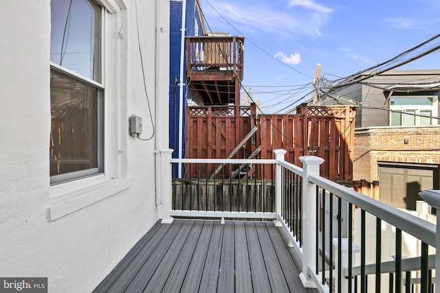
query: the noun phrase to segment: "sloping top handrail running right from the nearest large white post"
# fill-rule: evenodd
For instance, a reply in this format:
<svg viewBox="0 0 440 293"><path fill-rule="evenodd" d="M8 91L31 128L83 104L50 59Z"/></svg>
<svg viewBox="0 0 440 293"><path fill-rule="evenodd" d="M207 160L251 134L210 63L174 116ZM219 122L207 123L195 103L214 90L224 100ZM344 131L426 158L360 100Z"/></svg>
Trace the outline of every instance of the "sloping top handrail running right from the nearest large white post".
<svg viewBox="0 0 440 293"><path fill-rule="evenodd" d="M436 226L434 224L417 218L414 215L405 213L395 207L391 207L388 204L364 196L326 178L310 176L309 180L311 183L314 183L333 194L337 194L340 198L351 202L351 204L375 215L377 218L392 224L401 231L405 231L406 233L421 239L422 242L435 247Z"/></svg>

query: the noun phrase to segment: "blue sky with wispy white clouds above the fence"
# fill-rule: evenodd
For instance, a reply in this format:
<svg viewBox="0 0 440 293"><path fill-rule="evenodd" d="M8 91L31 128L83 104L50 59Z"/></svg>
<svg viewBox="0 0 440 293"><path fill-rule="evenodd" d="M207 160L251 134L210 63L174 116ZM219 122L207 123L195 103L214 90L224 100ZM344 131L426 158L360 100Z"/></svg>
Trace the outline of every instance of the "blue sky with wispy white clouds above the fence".
<svg viewBox="0 0 440 293"><path fill-rule="evenodd" d="M245 37L243 87L286 112L334 81L440 34L438 0L200 0L208 31ZM397 69L440 69L436 51ZM301 99L306 96L305 99Z"/></svg>

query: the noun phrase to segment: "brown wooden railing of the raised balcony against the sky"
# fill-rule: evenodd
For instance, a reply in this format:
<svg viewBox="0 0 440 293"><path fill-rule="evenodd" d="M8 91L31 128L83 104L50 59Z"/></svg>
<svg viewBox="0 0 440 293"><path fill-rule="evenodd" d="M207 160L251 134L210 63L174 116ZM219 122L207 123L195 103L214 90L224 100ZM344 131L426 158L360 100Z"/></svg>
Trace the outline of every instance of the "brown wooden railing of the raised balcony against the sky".
<svg viewBox="0 0 440 293"><path fill-rule="evenodd" d="M188 36L187 76L191 71L229 70L243 80L243 44L239 36Z"/></svg>

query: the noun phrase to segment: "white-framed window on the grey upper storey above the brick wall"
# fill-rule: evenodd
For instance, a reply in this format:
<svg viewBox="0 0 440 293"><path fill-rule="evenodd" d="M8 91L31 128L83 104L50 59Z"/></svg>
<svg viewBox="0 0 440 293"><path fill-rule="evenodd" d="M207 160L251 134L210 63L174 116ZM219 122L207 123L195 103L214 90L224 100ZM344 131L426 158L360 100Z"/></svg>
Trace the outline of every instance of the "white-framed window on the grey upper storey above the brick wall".
<svg viewBox="0 0 440 293"><path fill-rule="evenodd" d="M437 124L437 96L391 97L391 126L428 126Z"/></svg>

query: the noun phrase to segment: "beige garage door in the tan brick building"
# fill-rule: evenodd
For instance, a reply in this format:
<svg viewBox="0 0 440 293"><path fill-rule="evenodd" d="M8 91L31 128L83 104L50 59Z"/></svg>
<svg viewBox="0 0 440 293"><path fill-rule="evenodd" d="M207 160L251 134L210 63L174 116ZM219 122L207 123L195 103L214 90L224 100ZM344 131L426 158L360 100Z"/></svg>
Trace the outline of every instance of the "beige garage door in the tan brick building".
<svg viewBox="0 0 440 293"><path fill-rule="evenodd" d="M393 207L415 210L419 191L439 188L437 165L378 165L380 201Z"/></svg>

